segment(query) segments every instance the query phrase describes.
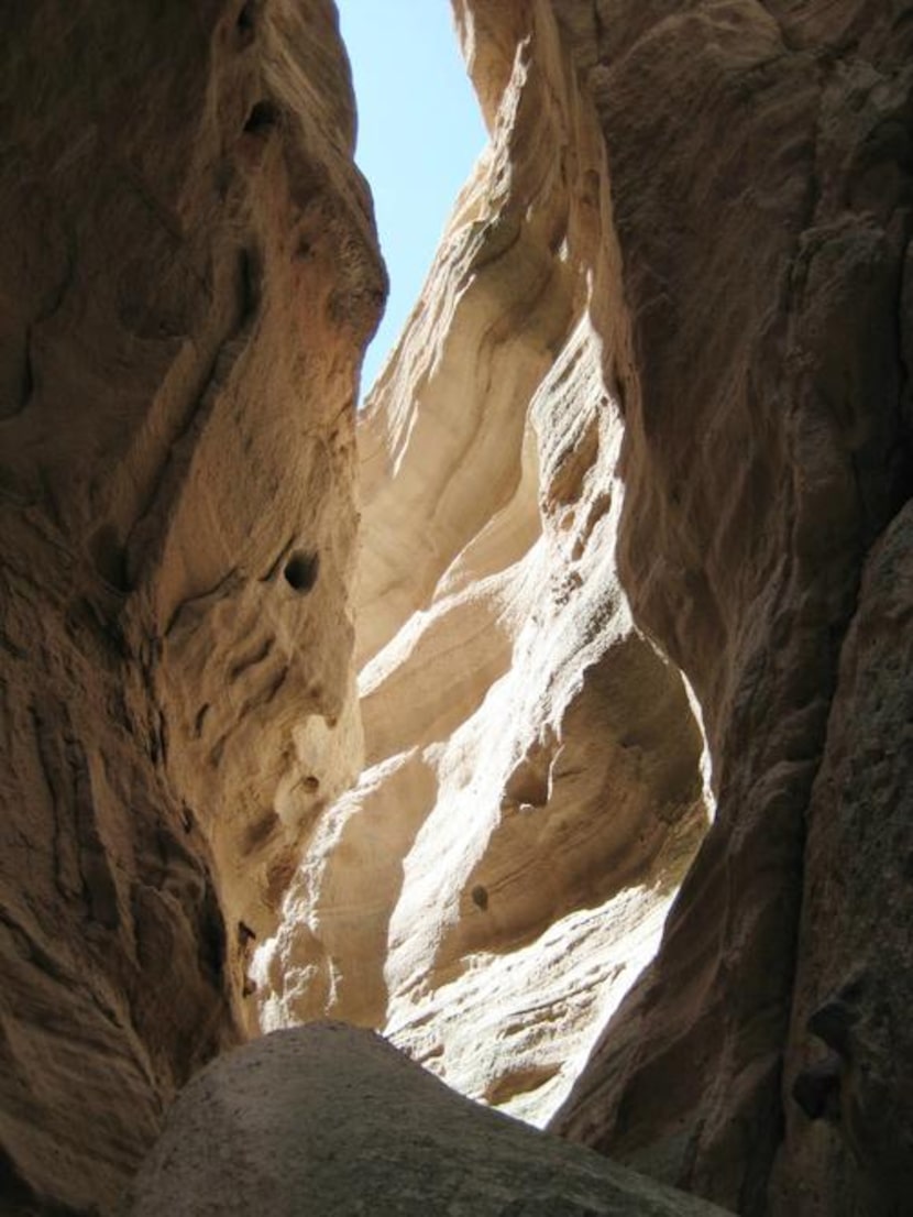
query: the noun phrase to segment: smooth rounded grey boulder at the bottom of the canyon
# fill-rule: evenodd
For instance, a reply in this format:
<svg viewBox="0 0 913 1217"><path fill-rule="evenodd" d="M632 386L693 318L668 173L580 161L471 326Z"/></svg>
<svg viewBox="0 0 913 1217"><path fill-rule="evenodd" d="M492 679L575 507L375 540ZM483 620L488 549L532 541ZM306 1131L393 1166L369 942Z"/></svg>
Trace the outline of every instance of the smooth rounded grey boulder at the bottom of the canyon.
<svg viewBox="0 0 913 1217"><path fill-rule="evenodd" d="M279 1031L187 1087L131 1217L723 1217L469 1103L368 1031Z"/></svg>

